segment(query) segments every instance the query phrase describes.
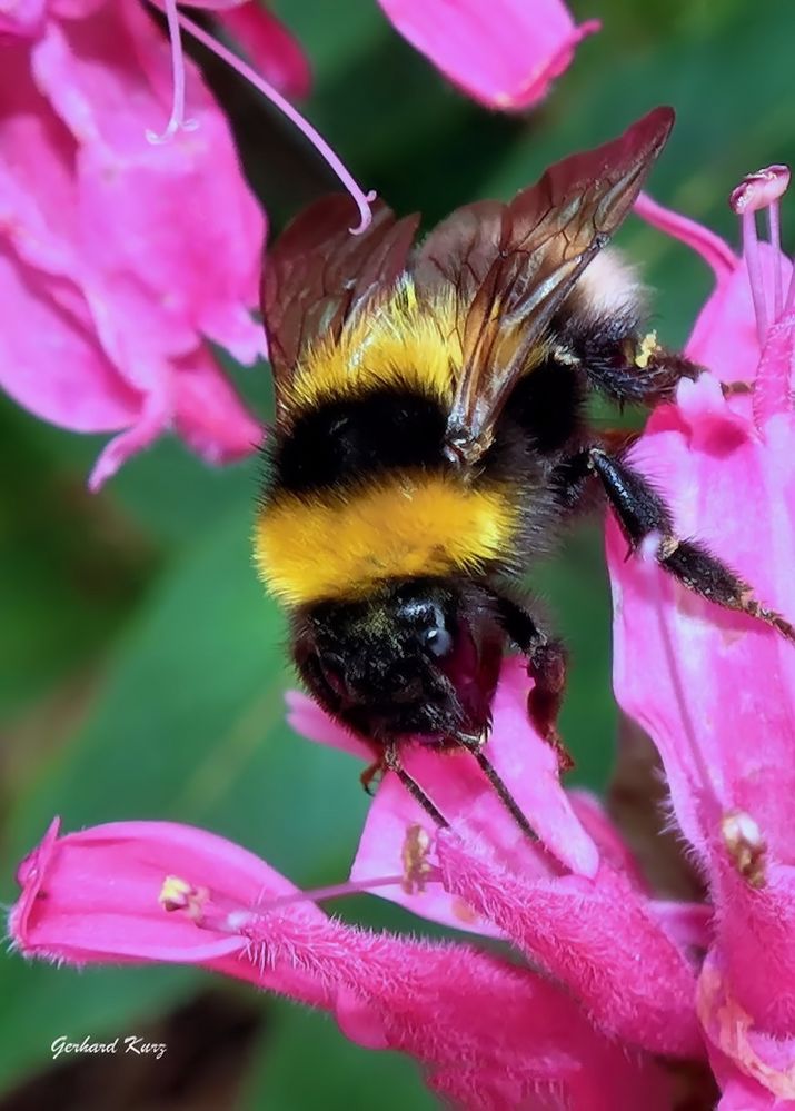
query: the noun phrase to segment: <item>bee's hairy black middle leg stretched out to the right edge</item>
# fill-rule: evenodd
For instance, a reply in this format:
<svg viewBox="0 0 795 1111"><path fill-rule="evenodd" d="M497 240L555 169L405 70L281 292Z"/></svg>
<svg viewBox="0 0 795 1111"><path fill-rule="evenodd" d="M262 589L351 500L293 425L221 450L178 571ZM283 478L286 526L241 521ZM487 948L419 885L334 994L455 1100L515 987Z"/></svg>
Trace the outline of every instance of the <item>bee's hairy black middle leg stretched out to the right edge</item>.
<svg viewBox="0 0 795 1111"><path fill-rule="evenodd" d="M684 586L726 609L758 617L787 639L795 641L795 629L789 622L763 606L747 583L699 544L676 536L670 510L642 475L600 448L592 448L588 456L632 550L647 536L658 533L657 562Z"/></svg>

